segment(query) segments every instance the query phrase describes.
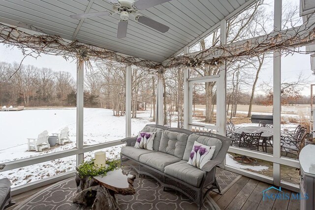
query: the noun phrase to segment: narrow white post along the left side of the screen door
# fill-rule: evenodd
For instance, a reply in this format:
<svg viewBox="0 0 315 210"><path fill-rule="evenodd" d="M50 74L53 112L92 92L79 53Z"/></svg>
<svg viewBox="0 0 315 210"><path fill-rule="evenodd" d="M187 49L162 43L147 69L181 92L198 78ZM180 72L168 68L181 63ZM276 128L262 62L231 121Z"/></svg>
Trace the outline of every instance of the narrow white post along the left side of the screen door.
<svg viewBox="0 0 315 210"><path fill-rule="evenodd" d="M189 54L189 47L184 48L184 55ZM184 67L184 128L189 129L189 67ZM192 98L190 98L192 100Z"/></svg>

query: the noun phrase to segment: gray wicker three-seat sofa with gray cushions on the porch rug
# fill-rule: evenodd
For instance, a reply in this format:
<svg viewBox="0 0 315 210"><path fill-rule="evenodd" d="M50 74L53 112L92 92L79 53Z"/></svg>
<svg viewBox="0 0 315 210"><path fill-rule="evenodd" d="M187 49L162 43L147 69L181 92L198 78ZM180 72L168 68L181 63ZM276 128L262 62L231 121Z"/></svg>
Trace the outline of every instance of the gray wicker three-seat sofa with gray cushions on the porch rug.
<svg viewBox="0 0 315 210"><path fill-rule="evenodd" d="M148 175L165 187L188 196L199 208L205 195L220 186L216 166L221 164L231 144L231 138L208 132L192 132L181 128L146 125L144 132L156 132L153 150L134 148L137 137L125 138L121 151L122 164L133 167L139 174ZM212 160L202 170L187 164L194 141L216 146Z"/></svg>

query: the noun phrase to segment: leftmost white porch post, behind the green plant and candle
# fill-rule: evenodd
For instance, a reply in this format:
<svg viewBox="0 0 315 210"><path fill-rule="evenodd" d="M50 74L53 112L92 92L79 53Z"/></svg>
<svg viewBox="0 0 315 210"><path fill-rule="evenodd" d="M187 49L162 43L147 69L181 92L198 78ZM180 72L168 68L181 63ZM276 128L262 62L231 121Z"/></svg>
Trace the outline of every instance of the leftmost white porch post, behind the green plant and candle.
<svg viewBox="0 0 315 210"><path fill-rule="evenodd" d="M77 149L83 148L84 61L77 58ZM77 154L77 166L83 161L83 153Z"/></svg>

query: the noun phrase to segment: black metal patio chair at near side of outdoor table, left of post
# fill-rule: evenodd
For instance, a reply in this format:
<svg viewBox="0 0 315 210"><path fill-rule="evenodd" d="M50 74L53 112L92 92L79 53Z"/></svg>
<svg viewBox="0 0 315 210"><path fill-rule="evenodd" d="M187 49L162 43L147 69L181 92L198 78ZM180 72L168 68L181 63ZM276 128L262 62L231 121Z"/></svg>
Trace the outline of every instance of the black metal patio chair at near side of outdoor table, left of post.
<svg viewBox="0 0 315 210"><path fill-rule="evenodd" d="M242 132L242 135L239 140L239 147L246 148L249 150L256 150L259 151L259 140L261 137L260 133L245 133Z"/></svg>

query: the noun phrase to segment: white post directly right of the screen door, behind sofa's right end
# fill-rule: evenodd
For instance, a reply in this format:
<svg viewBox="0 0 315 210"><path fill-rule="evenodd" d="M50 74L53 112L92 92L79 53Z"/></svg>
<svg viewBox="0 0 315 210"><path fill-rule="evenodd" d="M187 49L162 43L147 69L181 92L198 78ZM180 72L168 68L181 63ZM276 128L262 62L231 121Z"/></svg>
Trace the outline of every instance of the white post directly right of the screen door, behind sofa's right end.
<svg viewBox="0 0 315 210"><path fill-rule="evenodd" d="M226 44L226 20L221 21L220 27L220 41L221 45ZM218 133L225 136L225 123L226 123L226 72L225 72L225 61L220 66L220 78L217 96L217 129Z"/></svg>

